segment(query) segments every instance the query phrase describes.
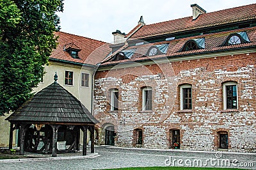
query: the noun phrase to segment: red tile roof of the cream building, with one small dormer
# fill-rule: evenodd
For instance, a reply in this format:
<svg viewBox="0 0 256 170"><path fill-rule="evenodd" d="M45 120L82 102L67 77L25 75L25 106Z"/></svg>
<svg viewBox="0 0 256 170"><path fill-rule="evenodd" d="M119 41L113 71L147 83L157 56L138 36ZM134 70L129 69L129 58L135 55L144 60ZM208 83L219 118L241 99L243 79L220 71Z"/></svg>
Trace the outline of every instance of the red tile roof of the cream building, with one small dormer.
<svg viewBox="0 0 256 170"><path fill-rule="evenodd" d="M58 46L52 51L50 59L60 61L70 61L72 63L96 65L100 63L111 52L109 43L100 42L83 36L72 35L58 31L55 33L58 38ZM79 59L72 58L64 47L72 44L75 49L79 48ZM69 47L69 46L68 46Z"/></svg>

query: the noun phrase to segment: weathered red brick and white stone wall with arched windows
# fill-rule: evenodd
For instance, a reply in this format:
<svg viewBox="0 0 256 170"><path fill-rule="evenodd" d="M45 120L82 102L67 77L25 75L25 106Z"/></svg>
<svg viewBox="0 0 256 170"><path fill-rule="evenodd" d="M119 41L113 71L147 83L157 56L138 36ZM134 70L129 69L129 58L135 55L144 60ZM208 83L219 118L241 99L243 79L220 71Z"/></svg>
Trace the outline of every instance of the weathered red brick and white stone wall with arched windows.
<svg viewBox="0 0 256 170"><path fill-rule="evenodd" d="M228 151L256 152L255 53L193 59L95 75L94 114L112 123L116 146L132 147L132 132L143 129L143 147L170 148L170 129L180 130L180 149L217 150L218 132L228 132ZM237 82L238 109L223 111L223 82ZM193 109L180 111L182 84L192 85ZM141 89L152 87L152 111L141 111ZM118 112L109 89L119 91Z"/></svg>

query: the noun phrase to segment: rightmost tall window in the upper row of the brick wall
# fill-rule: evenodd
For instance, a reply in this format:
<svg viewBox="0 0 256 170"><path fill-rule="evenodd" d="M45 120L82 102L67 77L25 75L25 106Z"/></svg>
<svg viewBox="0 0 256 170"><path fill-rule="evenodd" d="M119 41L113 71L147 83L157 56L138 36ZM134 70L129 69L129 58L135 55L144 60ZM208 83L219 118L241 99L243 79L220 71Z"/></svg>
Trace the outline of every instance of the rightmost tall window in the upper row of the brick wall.
<svg viewBox="0 0 256 170"><path fill-rule="evenodd" d="M223 84L223 106L226 109L237 109L237 83L225 82Z"/></svg>

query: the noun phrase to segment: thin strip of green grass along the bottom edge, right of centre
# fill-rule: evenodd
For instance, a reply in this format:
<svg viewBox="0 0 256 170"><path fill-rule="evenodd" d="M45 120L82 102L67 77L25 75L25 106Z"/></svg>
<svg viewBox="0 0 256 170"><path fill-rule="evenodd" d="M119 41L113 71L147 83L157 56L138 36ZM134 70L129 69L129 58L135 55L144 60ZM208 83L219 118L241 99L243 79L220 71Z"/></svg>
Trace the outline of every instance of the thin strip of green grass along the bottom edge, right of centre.
<svg viewBox="0 0 256 170"><path fill-rule="evenodd" d="M117 169L108 169L108 170L202 170L202 169L222 169L222 170L235 170L234 168L219 168L219 167L125 167L125 168L117 168Z"/></svg>

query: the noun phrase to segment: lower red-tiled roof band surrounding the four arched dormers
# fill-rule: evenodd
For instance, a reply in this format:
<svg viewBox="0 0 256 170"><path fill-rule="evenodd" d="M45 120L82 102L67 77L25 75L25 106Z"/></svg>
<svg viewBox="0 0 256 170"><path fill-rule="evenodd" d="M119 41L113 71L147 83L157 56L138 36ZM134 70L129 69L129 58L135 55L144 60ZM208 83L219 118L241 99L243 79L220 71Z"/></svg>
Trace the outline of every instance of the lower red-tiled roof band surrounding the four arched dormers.
<svg viewBox="0 0 256 170"><path fill-rule="evenodd" d="M228 36L234 33L239 32L246 32L248 35L248 38L250 42L248 43L241 43L237 45L223 45L225 40L227 40ZM198 49L198 50L188 50L188 51L181 51L182 47L185 45L186 42L193 39L198 38L204 38L205 39L205 49ZM160 45L160 44L166 44L168 43L168 50L166 51L166 54L160 54L156 56L146 56L148 49L152 47L153 45ZM211 33L207 35L198 35L198 36L189 36L186 38L179 38L164 42L156 42L156 43L147 43L143 45L135 45L128 47L128 45L124 46L124 48L121 48L120 50L117 50L115 53L113 53L111 56L109 56L105 61L102 63L102 65L111 65L111 64L117 64L117 63L125 63L128 61L140 61L144 59L156 59L156 58L172 58L176 56L182 56L186 54L198 54L202 52L217 52L219 50L230 50L230 49L239 49L243 47L256 47L256 27L250 27L250 28L243 28L243 29L236 29L232 31L223 31L219 33ZM134 54L132 55L131 59L124 59L119 61L111 61L110 58L113 58L115 54L122 50L129 50L129 49L136 49Z"/></svg>

